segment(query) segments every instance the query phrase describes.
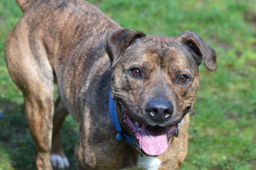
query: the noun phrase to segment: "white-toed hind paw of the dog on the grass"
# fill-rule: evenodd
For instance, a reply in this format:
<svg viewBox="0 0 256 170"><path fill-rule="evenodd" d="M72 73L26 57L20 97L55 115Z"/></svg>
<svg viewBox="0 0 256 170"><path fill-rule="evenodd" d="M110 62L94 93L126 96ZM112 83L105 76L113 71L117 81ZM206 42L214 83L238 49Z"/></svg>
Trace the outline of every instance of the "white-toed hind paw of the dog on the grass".
<svg viewBox="0 0 256 170"><path fill-rule="evenodd" d="M60 155L52 154L51 162L54 169L65 169L69 167L67 157L61 157Z"/></svg>

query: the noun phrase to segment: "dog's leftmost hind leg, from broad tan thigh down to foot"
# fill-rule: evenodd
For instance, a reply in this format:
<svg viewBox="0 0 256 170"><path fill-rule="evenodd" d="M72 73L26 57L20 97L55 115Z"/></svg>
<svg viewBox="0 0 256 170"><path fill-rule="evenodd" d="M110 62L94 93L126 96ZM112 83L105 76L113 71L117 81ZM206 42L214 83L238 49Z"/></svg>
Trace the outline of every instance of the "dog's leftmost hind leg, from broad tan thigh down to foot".
<svg viewBox="0 0 256 170"><path fill-rule="evenodd" d="M27 124L37 150L37 168L51 170L53 69L40 36L29 38L25 23L17 24L8 35L5 59L12 79L23 92Z"/></svg>

